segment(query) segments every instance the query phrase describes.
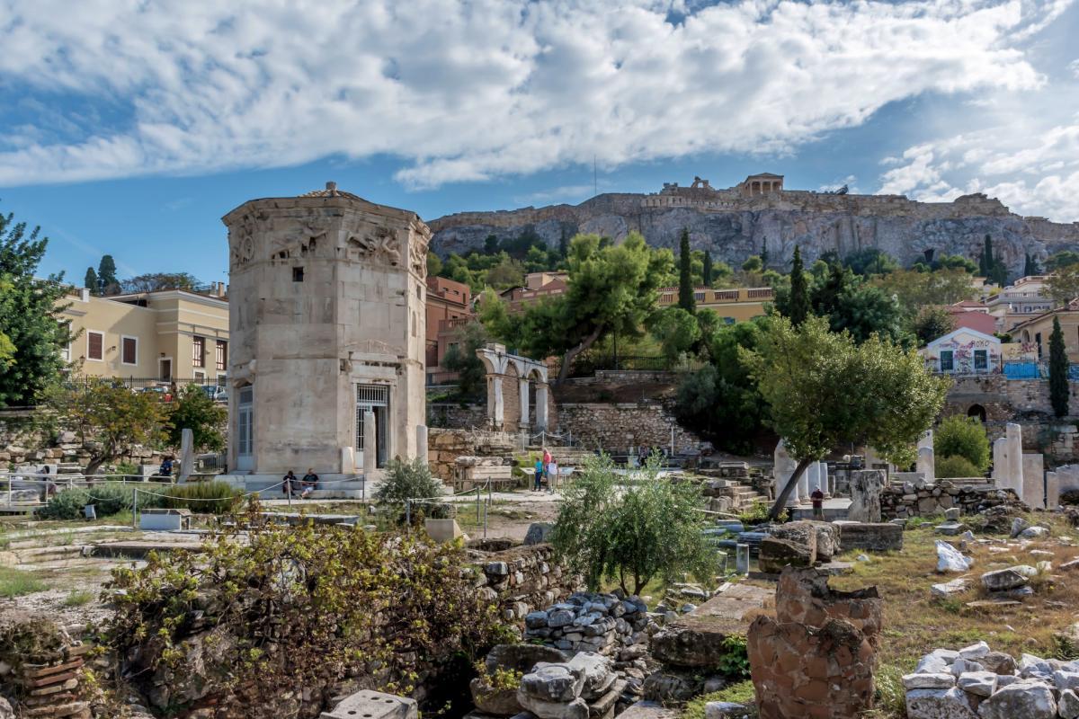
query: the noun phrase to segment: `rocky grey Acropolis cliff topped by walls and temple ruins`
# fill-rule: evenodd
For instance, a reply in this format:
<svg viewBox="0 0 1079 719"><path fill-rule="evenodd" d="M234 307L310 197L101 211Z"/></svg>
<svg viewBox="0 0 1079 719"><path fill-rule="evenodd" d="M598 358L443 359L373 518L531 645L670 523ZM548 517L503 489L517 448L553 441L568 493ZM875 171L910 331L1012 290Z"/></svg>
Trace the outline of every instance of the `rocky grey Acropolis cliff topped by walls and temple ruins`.
<svg viewBox="0 0 1079 719"><path fill-rule="evenodd" d="M1012 213L984 194L951 203L921 203L903 195L852 195L788 190L781 175L751 175L724 190L695 178L689 186L664 183L657 193L604 193L579 205L524 207L496 212L459 212L429 222L432 249L446 257L482 249L488 235L513 238L531 227L548 245L577 232L625 237L644 235L656 247L677 248L683 227L694 249L741 263L767 241L769 265L782 267L800 245L808 261L834 250L844 257L877 247L909 263L937 253L975 258L985 235L1011 273L1026 253L1038 260L1061 249L1079 249L1079 223Z"/></svg>

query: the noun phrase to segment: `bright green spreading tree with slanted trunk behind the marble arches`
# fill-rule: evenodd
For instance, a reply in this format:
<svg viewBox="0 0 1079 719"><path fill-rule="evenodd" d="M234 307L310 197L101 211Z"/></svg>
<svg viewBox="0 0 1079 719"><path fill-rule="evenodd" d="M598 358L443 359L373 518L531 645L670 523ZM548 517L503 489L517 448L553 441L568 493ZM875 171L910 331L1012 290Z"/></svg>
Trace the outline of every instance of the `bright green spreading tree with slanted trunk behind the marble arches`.
<svg viewBox="0 0 1079 719"><path fill-rule="evenodd" d="M577 235L570 243L569 288L563 294L529 305L510 316L493 293L484 293L480 319L488 331L530 357L562 356L559 382L574 358L601 337L640 337L656 312L657 289L673 265L670 250L652 250L631 232L619 245L599 235Z"/></svg>

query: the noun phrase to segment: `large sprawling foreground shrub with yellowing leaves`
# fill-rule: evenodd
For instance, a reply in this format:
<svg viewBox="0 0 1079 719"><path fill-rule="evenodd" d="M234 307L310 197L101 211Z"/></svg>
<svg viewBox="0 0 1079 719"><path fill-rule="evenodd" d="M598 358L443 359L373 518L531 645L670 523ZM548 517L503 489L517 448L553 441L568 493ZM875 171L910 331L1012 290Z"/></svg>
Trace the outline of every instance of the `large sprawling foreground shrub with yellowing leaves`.
<svg viewBox="0 0 1079 719"><path fill-rule="evenodd" d="M302 694L310 704L292 714L315 716L345 678L407 695L432 672L470 672L503 637L497 607L475 591L455 544L285 527L263 522L254 501L203 549L113 571L115 611L100 644L139 689L162 672L173 687L196 682L222 714L279 717ZM195 625L193 607L205 614Z"/></svg>

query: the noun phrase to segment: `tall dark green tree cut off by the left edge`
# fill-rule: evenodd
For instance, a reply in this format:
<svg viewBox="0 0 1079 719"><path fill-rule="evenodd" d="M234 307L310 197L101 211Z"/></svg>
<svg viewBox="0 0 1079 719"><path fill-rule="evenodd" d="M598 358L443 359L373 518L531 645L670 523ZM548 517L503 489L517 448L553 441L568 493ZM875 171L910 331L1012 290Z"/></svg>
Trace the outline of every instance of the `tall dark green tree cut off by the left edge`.
<svg viewBox="0 0 1079 719"><path fill-rule="evenodd" d="M63 275L37 276L49 239L40 227L0 216L0 342L6 359L0 372L0 406L28 405L64 369L60 348L71 342L63 318Z"/></svg>

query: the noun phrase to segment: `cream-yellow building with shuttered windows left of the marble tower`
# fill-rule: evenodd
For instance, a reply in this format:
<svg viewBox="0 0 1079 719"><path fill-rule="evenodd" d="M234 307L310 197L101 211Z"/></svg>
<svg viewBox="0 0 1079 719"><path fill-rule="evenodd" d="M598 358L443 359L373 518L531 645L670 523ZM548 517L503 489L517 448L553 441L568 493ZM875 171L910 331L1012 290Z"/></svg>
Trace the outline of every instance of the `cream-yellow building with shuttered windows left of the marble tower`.
<svg viewBox="0 0 1079 719"><path fill-rule="evenodd" d="M74 340L63 350L91 376L224 385L229 367L229 303L187 290L96 298L73 288L63 316Z"/></svg>

